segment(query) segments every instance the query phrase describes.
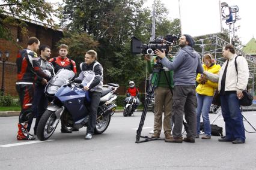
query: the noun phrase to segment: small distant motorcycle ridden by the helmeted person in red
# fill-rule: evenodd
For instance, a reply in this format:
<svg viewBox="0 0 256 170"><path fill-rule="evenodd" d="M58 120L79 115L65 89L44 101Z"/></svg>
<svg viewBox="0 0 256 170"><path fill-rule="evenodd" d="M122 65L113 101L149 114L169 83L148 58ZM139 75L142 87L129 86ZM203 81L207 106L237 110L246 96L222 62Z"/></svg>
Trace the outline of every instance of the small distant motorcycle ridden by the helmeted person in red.
<svg viewBox="0 0 256 170"><path fill-rule="evenodd" d="M136 101L138 100L136 96L132 96L129 93L126 94L127 98L124 100L124 117L132 116L133 112L135 111Z"/></svg>

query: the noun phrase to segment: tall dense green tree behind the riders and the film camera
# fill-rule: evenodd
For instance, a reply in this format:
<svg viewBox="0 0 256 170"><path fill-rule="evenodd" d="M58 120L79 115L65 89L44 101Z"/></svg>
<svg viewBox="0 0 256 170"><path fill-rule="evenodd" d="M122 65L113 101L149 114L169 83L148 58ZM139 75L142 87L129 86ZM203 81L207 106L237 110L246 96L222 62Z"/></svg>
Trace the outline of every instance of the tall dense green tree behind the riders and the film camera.
<svg viewBox="0 0 256 170"><path fill-rule="evenodd" d="M99 62L104 68L105 83L112 81L127 85L128 81L133 80L139 84L145 78L144 60L134 56L130 51L132 36L144 43L150 40L151 11L142 8L143 2L140 0L64 1L66 5L60 11L61 26L71 35L87 34L99 43L96 50L99 54ZM174 34L171 29L178 28L179 25L174 25L167 17L162 18L166 16L166 11L160 11L157 17L159 18L157 30L162 35ZM175 23L179 22L175 20ZM65 38L69 41L71 37Z"/></svg>

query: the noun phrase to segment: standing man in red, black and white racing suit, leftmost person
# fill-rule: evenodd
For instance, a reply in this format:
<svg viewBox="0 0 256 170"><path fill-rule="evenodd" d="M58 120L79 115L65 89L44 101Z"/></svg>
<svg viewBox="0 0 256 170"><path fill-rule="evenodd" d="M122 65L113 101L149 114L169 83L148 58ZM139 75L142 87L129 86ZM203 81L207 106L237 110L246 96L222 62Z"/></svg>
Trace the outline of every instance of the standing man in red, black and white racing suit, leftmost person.
<svg viewBox="0 0 256 170"><path fill-rule="evenodd" d="M27 130L28 121L34 116L32 114L32 101L34 98L34 82L36 75L50 80L51 76L44 73L38 62L39 57L35 51L38 50L40 41L35 37L28 39L28 47L20 50L17 54L17 82L16 90L19 94L21 111L18 123L18 140L34 140L35 137Z"/></svg>

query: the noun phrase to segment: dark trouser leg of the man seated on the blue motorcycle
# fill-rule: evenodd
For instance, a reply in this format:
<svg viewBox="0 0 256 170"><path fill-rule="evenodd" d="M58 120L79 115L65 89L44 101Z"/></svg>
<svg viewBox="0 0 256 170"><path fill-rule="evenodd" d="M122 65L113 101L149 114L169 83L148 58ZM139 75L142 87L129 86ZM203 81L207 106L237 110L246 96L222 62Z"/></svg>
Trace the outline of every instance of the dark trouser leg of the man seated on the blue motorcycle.
<svg viewBox="0 0 256 170"><path fill-rule="evenodd" d="M97 117L97 110L100 104L100 96L102 95L101 92L91 92L91 106L90 106L90 116L89 122L87 127L87 133L93 134L94 128L96 126L96 117Z"/></svg>

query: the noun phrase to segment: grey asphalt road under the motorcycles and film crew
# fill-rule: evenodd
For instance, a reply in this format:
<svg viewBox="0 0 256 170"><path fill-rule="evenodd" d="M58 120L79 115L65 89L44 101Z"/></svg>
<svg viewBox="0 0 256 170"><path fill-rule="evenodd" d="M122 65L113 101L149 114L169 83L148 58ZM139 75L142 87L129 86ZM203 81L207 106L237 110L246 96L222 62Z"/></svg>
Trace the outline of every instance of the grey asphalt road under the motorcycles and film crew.
<svg viewBox="0 0 256 170"><path fill-rule="evenodd" d="M244 113L256 126L256 112ZM213 120L216 114L210 114ZM115 113L109 128L85 140L86 128L63 134L60 126L45 142L17 141L18 117L0 117L0 169L255 169L256 133L245 144L197 139L195 144L161 140L135 143L141 112L134 117ZM245 123L245 128L252 130ZM216 125L224 127L222 117ZM150 135L153 113L147 113L142 135ZM225 128L224 128L225 129ZM184 134L184 136L186 136ZM163 132L161 137L164 138Z"/></svg>

